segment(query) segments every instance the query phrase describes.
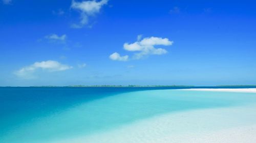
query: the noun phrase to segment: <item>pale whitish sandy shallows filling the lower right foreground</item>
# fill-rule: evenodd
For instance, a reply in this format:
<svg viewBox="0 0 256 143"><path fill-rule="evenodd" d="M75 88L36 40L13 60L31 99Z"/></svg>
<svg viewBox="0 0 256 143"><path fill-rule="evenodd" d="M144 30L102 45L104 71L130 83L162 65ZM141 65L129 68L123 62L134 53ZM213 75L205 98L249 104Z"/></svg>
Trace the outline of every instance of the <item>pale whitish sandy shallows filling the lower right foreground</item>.
<svg viewBox="0 0 256 143"><path fill-rule="evenodd" d="M256 142L255 107L169 113L114 130L47 143L252 143Z"/></svg>

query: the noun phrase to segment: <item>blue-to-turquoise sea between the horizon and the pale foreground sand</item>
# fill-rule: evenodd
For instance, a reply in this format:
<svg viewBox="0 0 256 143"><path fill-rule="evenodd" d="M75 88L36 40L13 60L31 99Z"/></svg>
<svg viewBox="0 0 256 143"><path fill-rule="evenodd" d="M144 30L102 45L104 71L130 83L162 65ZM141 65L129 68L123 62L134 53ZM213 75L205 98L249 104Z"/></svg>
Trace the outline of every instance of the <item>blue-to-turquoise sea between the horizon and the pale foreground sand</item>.
<svg viewBox="0 0 256 143"><path fill-rule="evenodd" d="M166 89L0 88L0 142L56 142L170 113L256 104L255 93Z"/></svg>

